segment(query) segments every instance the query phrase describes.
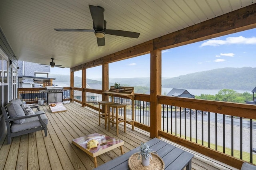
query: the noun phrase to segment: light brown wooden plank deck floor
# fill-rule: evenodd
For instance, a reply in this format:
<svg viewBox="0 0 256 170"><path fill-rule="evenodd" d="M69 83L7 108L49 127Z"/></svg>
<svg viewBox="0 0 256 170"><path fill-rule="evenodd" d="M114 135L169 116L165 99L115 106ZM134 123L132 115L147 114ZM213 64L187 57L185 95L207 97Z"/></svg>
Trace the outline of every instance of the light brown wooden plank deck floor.
<svg viewBox="0 0 256 170"><path fill-rule="evenodd" d="M0 140L0 170L91 170L94 168L93 158L72 144L72 139L92 133L106 134L124 140L124 152L128 152L147 142L151 138L148 132L138 128L131 129L126 124L126 133L123 126L119 125L119 135L116 136L116 128L110 131L104 128L104 121L98 125L98 113L80 104L64 103L66 112L51 113L48 106L40 106L48 117L48 136L43 131L38 131L12 138L12 143L7 144L4 136ZM97 157L98 166L121 155L120 148L116 148ZM228 166L212 162L200 155L192 159L192 168L195 170L234 169Z"/></svg>

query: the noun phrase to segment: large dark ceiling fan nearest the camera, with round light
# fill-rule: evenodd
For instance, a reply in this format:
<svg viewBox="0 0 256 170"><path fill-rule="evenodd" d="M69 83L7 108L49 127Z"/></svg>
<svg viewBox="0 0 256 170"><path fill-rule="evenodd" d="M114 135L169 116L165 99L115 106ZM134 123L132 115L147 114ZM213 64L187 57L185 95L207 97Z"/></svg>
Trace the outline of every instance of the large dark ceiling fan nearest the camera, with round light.
<svg viewBox="0 0 256 170"><path fill-rule="evenodd" d="M97 37L98 46L105 45L105 34L110 34L114 36L122 36L122 37L129 37L129 38L138 38L140 33L137 32L130 32L130 31L122 31L122 30L107 30L106 25L107 22L104 20L104 8L100 6L92 6L89 5L90 13L92 15L93 21L93 30L86 30L86 29L66 29L66 28L54 28L56 31L72 31L72 32L94 32L95 36Z"/></svg>

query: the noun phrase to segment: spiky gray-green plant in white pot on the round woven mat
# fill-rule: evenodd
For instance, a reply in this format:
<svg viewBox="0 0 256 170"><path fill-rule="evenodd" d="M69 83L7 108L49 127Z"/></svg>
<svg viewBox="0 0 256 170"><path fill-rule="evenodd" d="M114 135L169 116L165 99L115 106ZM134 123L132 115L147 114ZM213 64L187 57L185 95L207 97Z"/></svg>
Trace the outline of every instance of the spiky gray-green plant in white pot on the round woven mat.
<svg viewBox="0 0 256 170"><path fill-rule="evenodd" d="M149 145L144 142L141 142L138 151L140 151L138 159L140 159L141 156L142 165L149 166L150 158L152 158L151 149L149 148Z"/></svg>

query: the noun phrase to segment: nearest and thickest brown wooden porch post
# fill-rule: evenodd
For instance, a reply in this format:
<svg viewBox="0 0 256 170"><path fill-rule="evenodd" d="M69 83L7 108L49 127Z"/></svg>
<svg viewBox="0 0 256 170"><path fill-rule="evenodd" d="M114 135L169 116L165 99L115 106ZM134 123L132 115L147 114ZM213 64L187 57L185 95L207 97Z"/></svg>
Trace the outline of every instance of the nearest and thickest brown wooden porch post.
<svg viewBox="0 0 256 170"><path fill-rule="evenodd" d="M150 138L158 138L161 130L161 104L157 95L161 95L162 51L150 51Z"/></svg>

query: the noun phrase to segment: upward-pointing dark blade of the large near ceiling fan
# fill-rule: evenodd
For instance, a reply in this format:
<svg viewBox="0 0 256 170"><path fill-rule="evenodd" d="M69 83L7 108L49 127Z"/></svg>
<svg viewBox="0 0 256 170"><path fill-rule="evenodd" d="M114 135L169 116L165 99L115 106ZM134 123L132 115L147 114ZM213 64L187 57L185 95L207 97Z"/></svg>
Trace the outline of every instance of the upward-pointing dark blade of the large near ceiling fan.
<svg viewBox="0 0 256 170"><path fill-rule="evenodd" d="M89 5L90 8L90 12L92 15L92 21L93 21L93 25L95 26L95 28L93 28L94 30L101 30L103 31L104 28L104 8L100 7L100 6L93 6L93 5Z"/></svg>

